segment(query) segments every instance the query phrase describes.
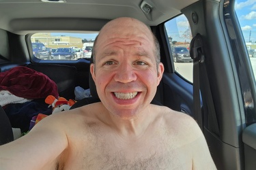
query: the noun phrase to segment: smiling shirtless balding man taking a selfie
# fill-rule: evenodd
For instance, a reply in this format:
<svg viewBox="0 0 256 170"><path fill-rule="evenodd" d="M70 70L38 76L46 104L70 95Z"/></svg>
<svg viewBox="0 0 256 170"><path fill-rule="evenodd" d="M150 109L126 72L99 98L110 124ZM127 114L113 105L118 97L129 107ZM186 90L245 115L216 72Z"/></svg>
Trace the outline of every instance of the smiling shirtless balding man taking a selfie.
<svg viewBox="0 0 256 170"><path fill-rule="evenodd" d="M1 146L1 169L216 169L193 118L150 104L164 71L157 48L139 20L106 24L91 65L102 102L48 116Z"/></svg>

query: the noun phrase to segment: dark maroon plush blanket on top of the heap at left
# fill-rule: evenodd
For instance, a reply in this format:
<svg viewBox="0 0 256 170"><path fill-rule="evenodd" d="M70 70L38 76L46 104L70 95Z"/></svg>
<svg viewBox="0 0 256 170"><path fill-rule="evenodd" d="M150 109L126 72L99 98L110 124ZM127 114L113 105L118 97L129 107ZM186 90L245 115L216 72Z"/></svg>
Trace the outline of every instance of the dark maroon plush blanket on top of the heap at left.
<svg viewBox="0 0 256 170"><path fill-rule="evenodd" d="M57 84L47 75L18 66L0 73L0 90L8 90L17 97L25 99L46 98L53 95L58 98Z"/></svg>

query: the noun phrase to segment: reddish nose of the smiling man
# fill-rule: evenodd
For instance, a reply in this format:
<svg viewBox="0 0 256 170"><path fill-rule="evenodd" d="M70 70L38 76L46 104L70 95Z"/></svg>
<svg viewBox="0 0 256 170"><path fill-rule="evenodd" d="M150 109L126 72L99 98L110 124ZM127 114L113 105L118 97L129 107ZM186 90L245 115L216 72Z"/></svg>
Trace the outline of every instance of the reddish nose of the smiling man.
<svg viewBox="0 0 256 170"><path fill-rule="evenodd" d="M123 63L119 65L119 68L115 74L115 81L128 83L137 79L137 75L134 73L132 65L128 63Z"/></svg>

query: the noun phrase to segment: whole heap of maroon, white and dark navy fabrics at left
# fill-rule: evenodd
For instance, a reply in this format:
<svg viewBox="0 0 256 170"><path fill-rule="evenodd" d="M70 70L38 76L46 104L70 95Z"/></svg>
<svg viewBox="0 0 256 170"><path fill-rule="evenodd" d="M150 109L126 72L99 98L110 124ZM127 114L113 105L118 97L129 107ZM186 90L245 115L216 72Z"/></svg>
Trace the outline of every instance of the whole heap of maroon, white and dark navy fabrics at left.
<svg viewBox="0 0 256 170"><path fill-rule="evenodd" d="M58 98L57 84L47 75L18 66L0 73L0 105L12 127L29 130L33 116L50 115L52 109L44 102L48 95Z"/></svg>

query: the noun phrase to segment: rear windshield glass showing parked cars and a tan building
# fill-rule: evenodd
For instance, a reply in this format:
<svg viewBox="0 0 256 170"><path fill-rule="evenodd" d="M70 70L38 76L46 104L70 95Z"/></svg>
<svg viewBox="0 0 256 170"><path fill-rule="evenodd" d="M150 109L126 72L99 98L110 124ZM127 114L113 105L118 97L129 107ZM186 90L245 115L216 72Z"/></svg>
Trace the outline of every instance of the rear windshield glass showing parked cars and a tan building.
<svg viewBox="0 0 256 170"><path fill-rule="evenodd" d="M74 61L91 58L98 33L35 33L31 36L33 55L41 60Z"/></svg>

